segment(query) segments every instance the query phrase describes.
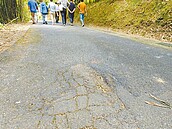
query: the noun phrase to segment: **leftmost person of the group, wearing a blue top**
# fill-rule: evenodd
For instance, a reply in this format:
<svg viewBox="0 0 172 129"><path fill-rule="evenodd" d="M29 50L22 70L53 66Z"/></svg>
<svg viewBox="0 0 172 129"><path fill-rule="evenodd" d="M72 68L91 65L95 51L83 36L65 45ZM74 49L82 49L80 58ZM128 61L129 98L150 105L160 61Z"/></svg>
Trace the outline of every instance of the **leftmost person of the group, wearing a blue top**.
<svg viewBox="0 0 172 129"><path fill-rule="evenodd" d="M28 1L28 8L31 12L32 22L33 22L33 24L36 24L35 17L36 17L36 13L38 10L37 2L35 0L29 0Z"/></svg>

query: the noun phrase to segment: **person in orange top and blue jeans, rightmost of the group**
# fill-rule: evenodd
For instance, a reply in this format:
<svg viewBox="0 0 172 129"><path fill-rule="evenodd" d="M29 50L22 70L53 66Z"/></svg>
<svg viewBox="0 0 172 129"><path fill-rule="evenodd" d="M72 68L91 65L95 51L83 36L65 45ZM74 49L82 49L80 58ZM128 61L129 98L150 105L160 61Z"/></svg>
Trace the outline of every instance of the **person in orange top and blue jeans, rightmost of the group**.
<svg viewBox="0 0 172 129"><path fill-rule="evenodd" d="M84 0L81 0L77 7L79 9L81 25L84 27L84 15L87 15L86 4L84 3Z"/></svg>

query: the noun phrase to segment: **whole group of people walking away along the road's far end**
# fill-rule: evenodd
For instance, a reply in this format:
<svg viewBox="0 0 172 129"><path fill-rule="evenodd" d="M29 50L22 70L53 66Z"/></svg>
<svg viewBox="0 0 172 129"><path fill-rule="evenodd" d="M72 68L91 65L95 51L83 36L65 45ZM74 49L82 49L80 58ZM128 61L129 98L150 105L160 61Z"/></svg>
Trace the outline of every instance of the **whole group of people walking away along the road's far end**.
<svg viewBox="0 0 172 129"><path fill-rule="evenodd" d="M67 21L67 12L70 19L70 24L73 26L74 22L74 13L76 9L76 5L73 0L57 0L57 2L53 2L50 0L48 5L44 2L44 0L39 0L39 8L38 3L35 0L28 1L28 7L31 12L31 17L33 24L36 24L36 13L40 12L42 15L43 24L48 24L47 22L47 15L50 14L51 17L51 24L54 25L55 23L59 22L59 16L61 14L62 17L62 24L65 26ZM80 3L77 5L79 9L80 21L81 26L84 27L84 15L87 15L86 4L84 0L80 0Z"/></svg>

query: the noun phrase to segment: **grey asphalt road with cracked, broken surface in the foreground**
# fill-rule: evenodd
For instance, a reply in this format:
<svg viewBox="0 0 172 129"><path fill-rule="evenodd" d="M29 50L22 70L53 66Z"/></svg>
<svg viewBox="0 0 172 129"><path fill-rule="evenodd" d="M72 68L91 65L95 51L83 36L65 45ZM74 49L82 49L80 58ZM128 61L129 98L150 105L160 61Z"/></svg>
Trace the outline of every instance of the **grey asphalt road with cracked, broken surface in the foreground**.
<svg viewBox="0 0 172 129"><path fill-rule="evenodd" d="M37 24L0 54L0 128L170 129L172 50ZM158 102L156 102L158 103Z"/></svg>

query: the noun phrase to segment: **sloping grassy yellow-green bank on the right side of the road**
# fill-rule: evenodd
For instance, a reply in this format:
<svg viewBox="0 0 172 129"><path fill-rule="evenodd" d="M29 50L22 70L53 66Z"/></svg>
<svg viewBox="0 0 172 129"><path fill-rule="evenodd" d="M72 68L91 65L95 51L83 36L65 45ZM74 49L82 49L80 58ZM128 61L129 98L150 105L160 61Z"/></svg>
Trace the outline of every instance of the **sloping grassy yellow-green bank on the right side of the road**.
<svg viewBox="0 0 172 129"><path fill-rule="evenodd" d="M100 0L87 9L87 24L172 42L171 0Z"/></svg>

